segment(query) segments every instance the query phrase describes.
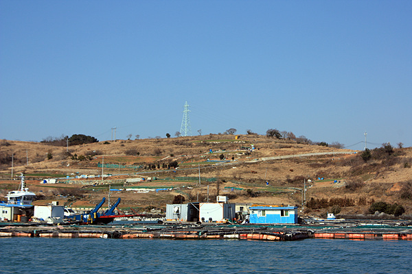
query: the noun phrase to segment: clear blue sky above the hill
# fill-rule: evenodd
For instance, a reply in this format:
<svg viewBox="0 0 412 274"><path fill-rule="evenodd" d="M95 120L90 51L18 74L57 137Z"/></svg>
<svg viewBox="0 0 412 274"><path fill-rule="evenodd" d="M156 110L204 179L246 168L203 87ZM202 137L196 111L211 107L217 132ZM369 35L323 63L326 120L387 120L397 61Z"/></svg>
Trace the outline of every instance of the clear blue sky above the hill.
<svg viewBox="0 0 412 274"><path fill-rule="evenodd" d="M0 1L0 138L412 146L412 1ZM357 145L354 145L357 144Z"/></svg>

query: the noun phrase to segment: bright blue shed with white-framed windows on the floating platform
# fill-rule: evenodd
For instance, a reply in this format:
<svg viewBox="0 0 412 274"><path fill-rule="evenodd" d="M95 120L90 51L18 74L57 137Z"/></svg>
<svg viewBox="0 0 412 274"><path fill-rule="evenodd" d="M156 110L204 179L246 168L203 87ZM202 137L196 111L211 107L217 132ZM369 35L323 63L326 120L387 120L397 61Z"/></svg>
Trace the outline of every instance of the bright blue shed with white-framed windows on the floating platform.
<svg viewBox="0 0 412 274"><path fill-rule="evenodd" d="M251 206L250 223L297 223L296 206Z"/></svg>

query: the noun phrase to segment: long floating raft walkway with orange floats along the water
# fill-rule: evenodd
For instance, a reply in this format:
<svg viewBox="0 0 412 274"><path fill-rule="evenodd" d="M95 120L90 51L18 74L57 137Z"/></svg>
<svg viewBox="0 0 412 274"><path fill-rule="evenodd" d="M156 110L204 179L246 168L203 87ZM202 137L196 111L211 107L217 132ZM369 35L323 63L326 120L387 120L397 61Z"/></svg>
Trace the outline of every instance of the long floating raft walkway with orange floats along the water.
<svg viewBox="0 0 412 274"><path fill-rule="evenodd" d="M412 227L248 227L242 225L107 225L107 226L19 226L0 229L0 237L38 238L161 238L171 240L266 240L289 241L306 238L349 240L412 240Z"/></svg>

